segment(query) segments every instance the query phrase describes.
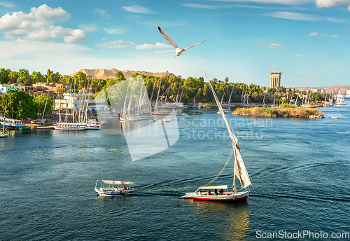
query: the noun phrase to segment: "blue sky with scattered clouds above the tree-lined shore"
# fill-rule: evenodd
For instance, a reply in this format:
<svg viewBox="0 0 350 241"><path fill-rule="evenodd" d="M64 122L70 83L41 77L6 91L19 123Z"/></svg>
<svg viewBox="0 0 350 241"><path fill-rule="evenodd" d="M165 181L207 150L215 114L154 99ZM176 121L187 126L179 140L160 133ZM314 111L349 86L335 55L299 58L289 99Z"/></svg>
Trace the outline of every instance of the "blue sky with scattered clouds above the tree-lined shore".
<svg viewBox="0 0 350 241"><path fill-rule="evenodd" d="M0 67L350 85L350 0L1 1ZM159 25L180 48L158 31Z"/></svg>

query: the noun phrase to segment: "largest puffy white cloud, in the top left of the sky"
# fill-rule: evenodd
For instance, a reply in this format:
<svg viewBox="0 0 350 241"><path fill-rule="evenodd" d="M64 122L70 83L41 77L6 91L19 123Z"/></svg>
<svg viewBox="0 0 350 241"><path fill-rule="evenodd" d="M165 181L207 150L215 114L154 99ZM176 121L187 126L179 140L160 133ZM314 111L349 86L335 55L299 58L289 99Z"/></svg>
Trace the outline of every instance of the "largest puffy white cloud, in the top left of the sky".
<svg viewBox="0 0 350 241"><path fill-rule="evenodd" d="M0 32L6 39L27 39L31 41L55 41L64 39L64 42L83 41L87 35L82 29L70 29L62 26L53 26L52 22L64 21L69 18L62 8L50 8L43 4L38 8L31 8L30 13L6 13L0 18Z"/></svg>

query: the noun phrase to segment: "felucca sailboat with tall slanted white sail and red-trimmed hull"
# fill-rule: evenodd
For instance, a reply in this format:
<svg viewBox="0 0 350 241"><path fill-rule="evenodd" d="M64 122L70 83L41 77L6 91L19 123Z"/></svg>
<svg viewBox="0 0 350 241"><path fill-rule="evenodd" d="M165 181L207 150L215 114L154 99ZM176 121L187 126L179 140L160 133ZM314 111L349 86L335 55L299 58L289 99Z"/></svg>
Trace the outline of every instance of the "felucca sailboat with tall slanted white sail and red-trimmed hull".
<svg viewBox="0 0 350 241"><path fill-rule="evenodd" d="M211 86L210 81L209 81L209 85L210 85L211 91L213 92L216 104L218 105L219 111L221 112L221 116L223 116L223 120L225 121L226 127L228 128L228 132L230 133L230 137L232 140L233 148L232 148L230 157L228 158L228 160L226 161L223 167L223 170L225 170L225 167L228 165L232 154L234 154L235 165L234 165L232 191L229 190L228 185L209 186L213 184L214 181L218 179L218 177L220 177L221 173L223 172L223 170L221 170L221 172L219 172L219 174L208 184L204 186L200 186L200 188L197 188L197 190L193 193L186 193L186 195L182 196L181 198L187 198L187 199L193 199L193 200L209 200L209 201L218 201L218 202L233 202L237 200L246 200L250 193L251 180L249 179L248 172L246 171L246 167L244 166L243 160L241 158L237 137L232 132L232 128L228 123L228 119L225 116L223 107L221 106L218 100L218 97L216 96L216 93L213 87ZM241 189L239 189L239 191L237 191L237 188L235 186L236 177L239 179L241 183ZM213 192L211 192L211 190ZM205 192L202 192L202 191L205 191Z"/></svg>

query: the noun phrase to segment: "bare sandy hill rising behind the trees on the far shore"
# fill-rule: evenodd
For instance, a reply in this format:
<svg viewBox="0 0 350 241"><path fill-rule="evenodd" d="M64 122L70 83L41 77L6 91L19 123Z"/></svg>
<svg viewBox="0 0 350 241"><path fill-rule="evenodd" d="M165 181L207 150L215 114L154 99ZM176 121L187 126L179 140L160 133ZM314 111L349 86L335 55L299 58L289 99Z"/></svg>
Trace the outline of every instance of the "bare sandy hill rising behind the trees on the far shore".
<svg viewBox="0 0 350 241"><path fill-rule="evenodd" d="M80 69L78 72L83 72L87 75L91 75L92 79L95 78L116 78L116 73L118 72L118 69ZM121 70L125 76L125 78L132 78L132 75L135 73L140 73L148 76L157 76L157 77L163 77L163 76L170 76L174 77L175 75L172 73L169 73L168 71L166 72L158 72L158 73L152 73L152 72L147 72L147 71L138 71L138 70ZM76 74L74 73L74 74ZM70 74L70 76L74 76L74 74Z"/></svg>

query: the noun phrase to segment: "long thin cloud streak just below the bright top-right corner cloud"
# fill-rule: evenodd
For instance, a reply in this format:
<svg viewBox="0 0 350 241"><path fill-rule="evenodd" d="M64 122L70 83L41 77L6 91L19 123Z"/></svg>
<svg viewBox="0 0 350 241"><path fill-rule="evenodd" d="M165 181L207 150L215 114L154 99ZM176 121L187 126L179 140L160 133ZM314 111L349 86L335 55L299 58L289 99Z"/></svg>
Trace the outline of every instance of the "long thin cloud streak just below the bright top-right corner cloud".
<svg viewBox="0 0 350 241"><path fill-rule="evenodd" d="M270 16L270 17L274 17L274 18L286 18L286 19L290 19L290 20L299 20L299 21L345 22L345 20L339 20L336 18L318 17L316 15L311 15L311 14L293 13L293 12L286 12L286 11L269 13L269 14L266 14L266 16Z"/></svg>

